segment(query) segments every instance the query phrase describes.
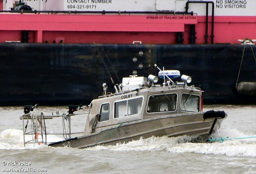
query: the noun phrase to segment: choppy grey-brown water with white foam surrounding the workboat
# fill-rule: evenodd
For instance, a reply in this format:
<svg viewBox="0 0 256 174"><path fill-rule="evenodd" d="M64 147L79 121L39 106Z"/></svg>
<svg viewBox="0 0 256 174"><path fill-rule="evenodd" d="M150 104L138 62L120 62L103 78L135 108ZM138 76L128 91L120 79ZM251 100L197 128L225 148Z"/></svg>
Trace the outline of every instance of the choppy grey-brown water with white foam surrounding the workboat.
<svg viewBox="0 0 256 174"><path fill-rule="evenodd" d="M0 107L0 173L19 173L3 172L4 168L47 169L47 172L37 173L256 173L256 138L187 143L187 136L151 137L87 149L34 147L32 144L24 148L22 121L19 120L23 111L20 108ZM204 111L212 109L228 113L213 138L256 136L256 106L204 106ZM67 112L65 107L39 107L35 111L46 110L45 115L57 110ZM71 122L72 131L84 130L84 118L77 117ZM58 118L46 124L52 127L48 132L62 129ZM57 135L47 138L52 141L63 139ZM30 162L31 165L8 165L14 161Z"/></svg>

